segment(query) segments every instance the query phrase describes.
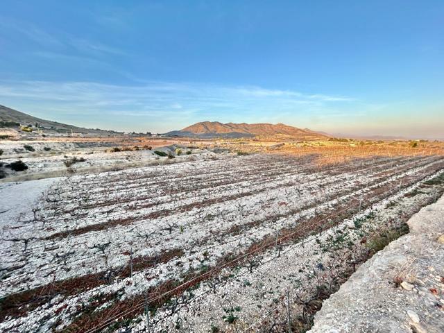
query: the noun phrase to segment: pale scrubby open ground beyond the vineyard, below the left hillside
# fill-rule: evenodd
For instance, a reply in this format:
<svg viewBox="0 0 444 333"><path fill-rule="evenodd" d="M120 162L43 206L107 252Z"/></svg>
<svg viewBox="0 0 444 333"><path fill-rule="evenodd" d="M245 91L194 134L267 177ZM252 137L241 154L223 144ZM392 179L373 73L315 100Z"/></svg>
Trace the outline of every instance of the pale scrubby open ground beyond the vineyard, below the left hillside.
<svg viewBox="0 0 444 333"><path fill-rule="evenodd" d="M164 162L182 162L210 158L210 142L189 139L115 137L115 138L46 138L40 140L0 141L0 182L35 180L66 176L72 173L146 167ZM180 150L182 153L178 153ZM177 157L161 157L161 151ZM70 160L76 159L74 163ZM14 172L6 167L21 160L28 169Z"/></svg>

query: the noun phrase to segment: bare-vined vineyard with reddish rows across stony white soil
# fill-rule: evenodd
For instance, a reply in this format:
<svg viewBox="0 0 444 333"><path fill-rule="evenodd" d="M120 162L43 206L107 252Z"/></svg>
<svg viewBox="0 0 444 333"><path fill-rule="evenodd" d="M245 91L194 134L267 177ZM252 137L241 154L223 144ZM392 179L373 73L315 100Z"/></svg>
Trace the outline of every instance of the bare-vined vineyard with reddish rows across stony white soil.
<svg viewBox="0 0 444 333"><path fill-rule="evenodd" d="M60 178L3 226L0 330L302 332L443 172L436 153L260 153Z"/></svg>

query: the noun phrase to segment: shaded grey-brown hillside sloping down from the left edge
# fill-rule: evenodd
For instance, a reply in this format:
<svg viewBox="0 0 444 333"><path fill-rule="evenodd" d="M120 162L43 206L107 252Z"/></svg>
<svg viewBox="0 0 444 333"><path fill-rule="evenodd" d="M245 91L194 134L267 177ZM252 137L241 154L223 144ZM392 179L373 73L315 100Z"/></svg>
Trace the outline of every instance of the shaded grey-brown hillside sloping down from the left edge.
<svg viewBox="0 0 444 333"><path fill-rule="evenodd" d="M38 123L40 128L44 128L45 132L46 130L49 132L55 132L55 133L64 133L69 132L71 133L81 133L81 134L88 134L88 135L112 135L112 134L121 134L119 132L116 132L114 130L100 130L99 128L92 129L92 128L83 128L78 126L72 126L67 125L66 123L58 123L57 121L50 121L45 120L37 117L33 117L29 114L26 114L24 112L20 112L11 108L8 108L4 105L0 105L0 121L13 121L15 123L20 123L22 125L35 125L35 123Z"/></svg>

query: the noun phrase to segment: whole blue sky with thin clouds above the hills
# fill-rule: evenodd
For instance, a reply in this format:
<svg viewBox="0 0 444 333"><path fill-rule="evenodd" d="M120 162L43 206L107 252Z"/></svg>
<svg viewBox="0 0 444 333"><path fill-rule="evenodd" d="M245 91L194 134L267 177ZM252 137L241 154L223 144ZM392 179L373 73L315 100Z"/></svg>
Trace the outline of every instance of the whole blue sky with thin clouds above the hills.
<svg viewBox="0 0 444 333"><path fill-rule="evenodd" d="M444 137L443 17L441 0L6 0L0 104L116 130Z"/></svg>

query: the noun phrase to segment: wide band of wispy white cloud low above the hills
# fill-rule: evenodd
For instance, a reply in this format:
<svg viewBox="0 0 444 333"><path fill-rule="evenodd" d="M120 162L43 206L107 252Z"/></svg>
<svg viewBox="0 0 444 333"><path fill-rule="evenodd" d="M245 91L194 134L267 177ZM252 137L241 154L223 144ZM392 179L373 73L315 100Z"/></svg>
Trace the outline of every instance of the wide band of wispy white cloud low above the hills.
<svg viewBox="0 0 444 333"><path fill-rule="evenodd" d="M12 80L0 80L0 99L20 106L25 112L37 110L40 117L60 121L77 117L81 125L82 121L91 123L94 115L104 121L112 119L114 123L108 126L111 128L158 132L206 119L254 122L268 117L283 121L352 100L263 87L154 81L130 86ZM141 117L146 120L141 121Z"/></svg>

